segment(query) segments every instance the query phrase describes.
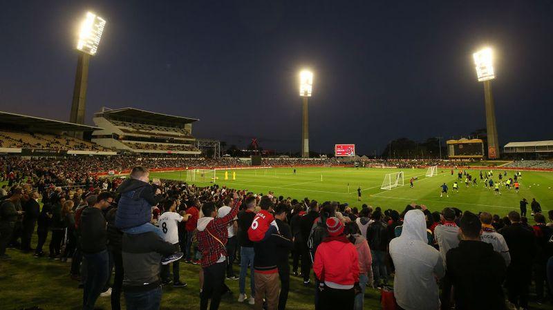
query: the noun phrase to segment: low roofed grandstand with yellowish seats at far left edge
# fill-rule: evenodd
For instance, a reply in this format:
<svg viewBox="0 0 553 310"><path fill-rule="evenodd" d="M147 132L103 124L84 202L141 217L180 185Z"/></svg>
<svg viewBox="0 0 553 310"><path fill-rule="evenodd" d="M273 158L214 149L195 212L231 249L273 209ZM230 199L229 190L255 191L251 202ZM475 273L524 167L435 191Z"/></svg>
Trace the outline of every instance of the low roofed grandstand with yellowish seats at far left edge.
<svg viewBox="0 0 553 310"><path fill-rule="evenodd" d="M0 112L0 153L115 155L109 148L68 135L97 129L100 128Z"/></svg>

